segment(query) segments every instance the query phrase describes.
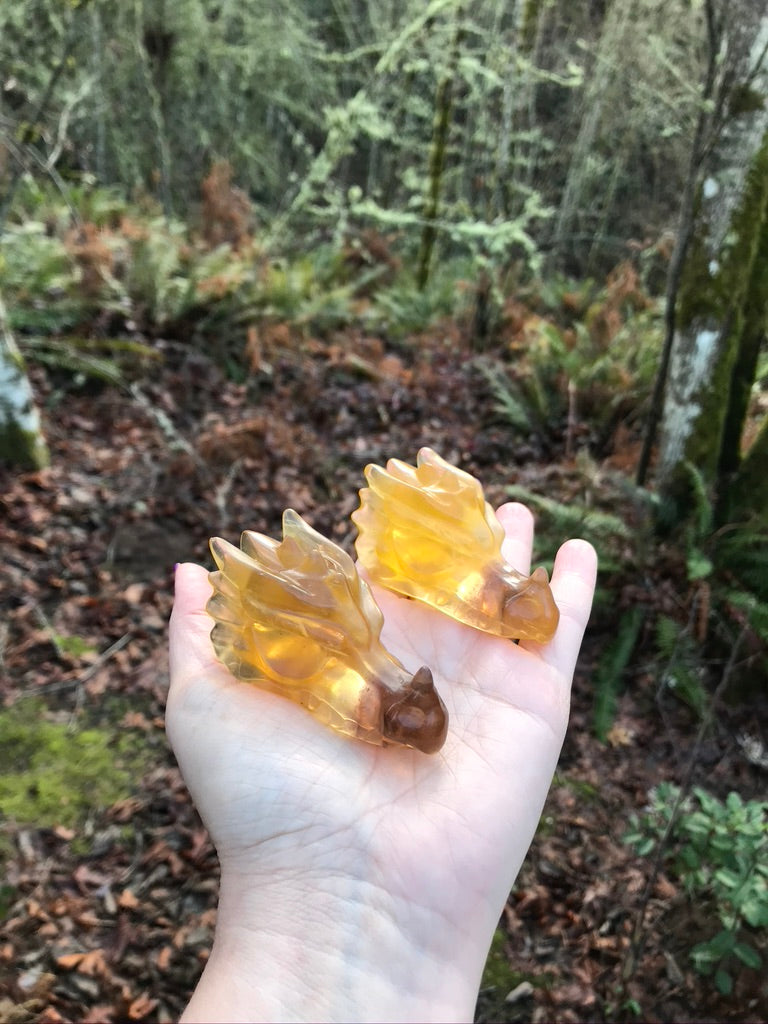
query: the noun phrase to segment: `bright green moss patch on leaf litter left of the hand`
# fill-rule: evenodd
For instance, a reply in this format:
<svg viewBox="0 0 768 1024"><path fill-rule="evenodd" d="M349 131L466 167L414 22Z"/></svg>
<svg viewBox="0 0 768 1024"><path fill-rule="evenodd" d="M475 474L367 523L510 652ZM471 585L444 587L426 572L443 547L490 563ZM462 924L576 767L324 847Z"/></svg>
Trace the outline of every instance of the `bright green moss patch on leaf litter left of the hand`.
<svg viewBox="0 0 768 1024"><path fill-rule="evenodd" d="M0 712L0 814L77 827L130 795L148 757L136 733L71 729L47 718L42 700L20 700Z"/></svg>

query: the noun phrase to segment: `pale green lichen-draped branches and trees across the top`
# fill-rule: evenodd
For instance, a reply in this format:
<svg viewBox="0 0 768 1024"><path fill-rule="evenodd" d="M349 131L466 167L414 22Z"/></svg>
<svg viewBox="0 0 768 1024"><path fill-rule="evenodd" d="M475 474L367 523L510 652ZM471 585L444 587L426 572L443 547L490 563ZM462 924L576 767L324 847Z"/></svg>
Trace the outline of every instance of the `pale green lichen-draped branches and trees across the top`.
<svg viewBox="0 0 768 1024"><path fill-rule="evenodd" d="M660 22L645 4L605 16L530 9L520 31L515 6L496 0L2 4L7 173L50 176L61 190L119 184L170 216L194 211L226 154L273 247L388 219L415 252L431 220L438 86L450 82L431 220L441 256L536 270L554 220L561 253L608 266L616 239L676 212L699 19L685 0Z"/></svg>

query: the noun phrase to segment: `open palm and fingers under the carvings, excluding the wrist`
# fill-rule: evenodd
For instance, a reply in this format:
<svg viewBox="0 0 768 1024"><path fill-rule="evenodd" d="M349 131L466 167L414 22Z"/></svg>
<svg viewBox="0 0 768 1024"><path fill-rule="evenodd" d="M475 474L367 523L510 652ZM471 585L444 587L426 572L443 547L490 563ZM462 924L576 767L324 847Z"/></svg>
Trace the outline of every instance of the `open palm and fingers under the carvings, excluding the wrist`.
<svg viewBox="0 0 768 1024"><path fill-rule="evenodd" d="M532 517L512 504L499 518L507 560L527 571ZM565 544L552 580L560 624L546 646L374 590L385 646L409 671L429 666L449 711L445 744L428 756L346 739L236 682L210 643L205 570L179 566L167 725L222 877L292 879L303 892L342 880L376 894L413 948L433 948L436 934L446 948L460 941L462 969L479 981L557 762L594 580L592 548Z"/></svg>

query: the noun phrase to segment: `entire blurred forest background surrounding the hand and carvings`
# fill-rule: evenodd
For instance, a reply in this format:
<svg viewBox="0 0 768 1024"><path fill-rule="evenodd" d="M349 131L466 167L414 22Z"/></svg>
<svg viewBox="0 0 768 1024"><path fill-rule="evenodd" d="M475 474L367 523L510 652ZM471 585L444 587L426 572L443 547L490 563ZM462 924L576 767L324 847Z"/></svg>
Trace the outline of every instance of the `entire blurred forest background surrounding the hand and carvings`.
<svg viewBox="0 0 768 1024"><path fill-rule="evenodd" d="M601 558L478 1020L768 1017L767 50L761 0L0 4L0 1019L178 1014L170 565L349 547L425 443Z"/></svg>

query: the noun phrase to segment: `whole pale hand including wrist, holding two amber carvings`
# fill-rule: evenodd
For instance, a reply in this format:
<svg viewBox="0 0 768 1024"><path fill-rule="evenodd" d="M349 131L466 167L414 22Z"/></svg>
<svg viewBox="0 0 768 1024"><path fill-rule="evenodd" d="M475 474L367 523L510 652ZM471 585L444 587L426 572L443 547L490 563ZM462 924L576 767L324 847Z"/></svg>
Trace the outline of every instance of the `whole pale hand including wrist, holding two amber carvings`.
<svg viewBox="0 0 768 1024"><path fill-rule="evenodd" d="M528 571L530 513L499 518L505 557ZM237 682L211 646L207 573L179 566L167 726L222 873L185 1019L471 1019L557 763L595 570L590 545L560 549L545 646L374 591L385 646L429 666L449 710L426 756L347 740Z"/></svg>

